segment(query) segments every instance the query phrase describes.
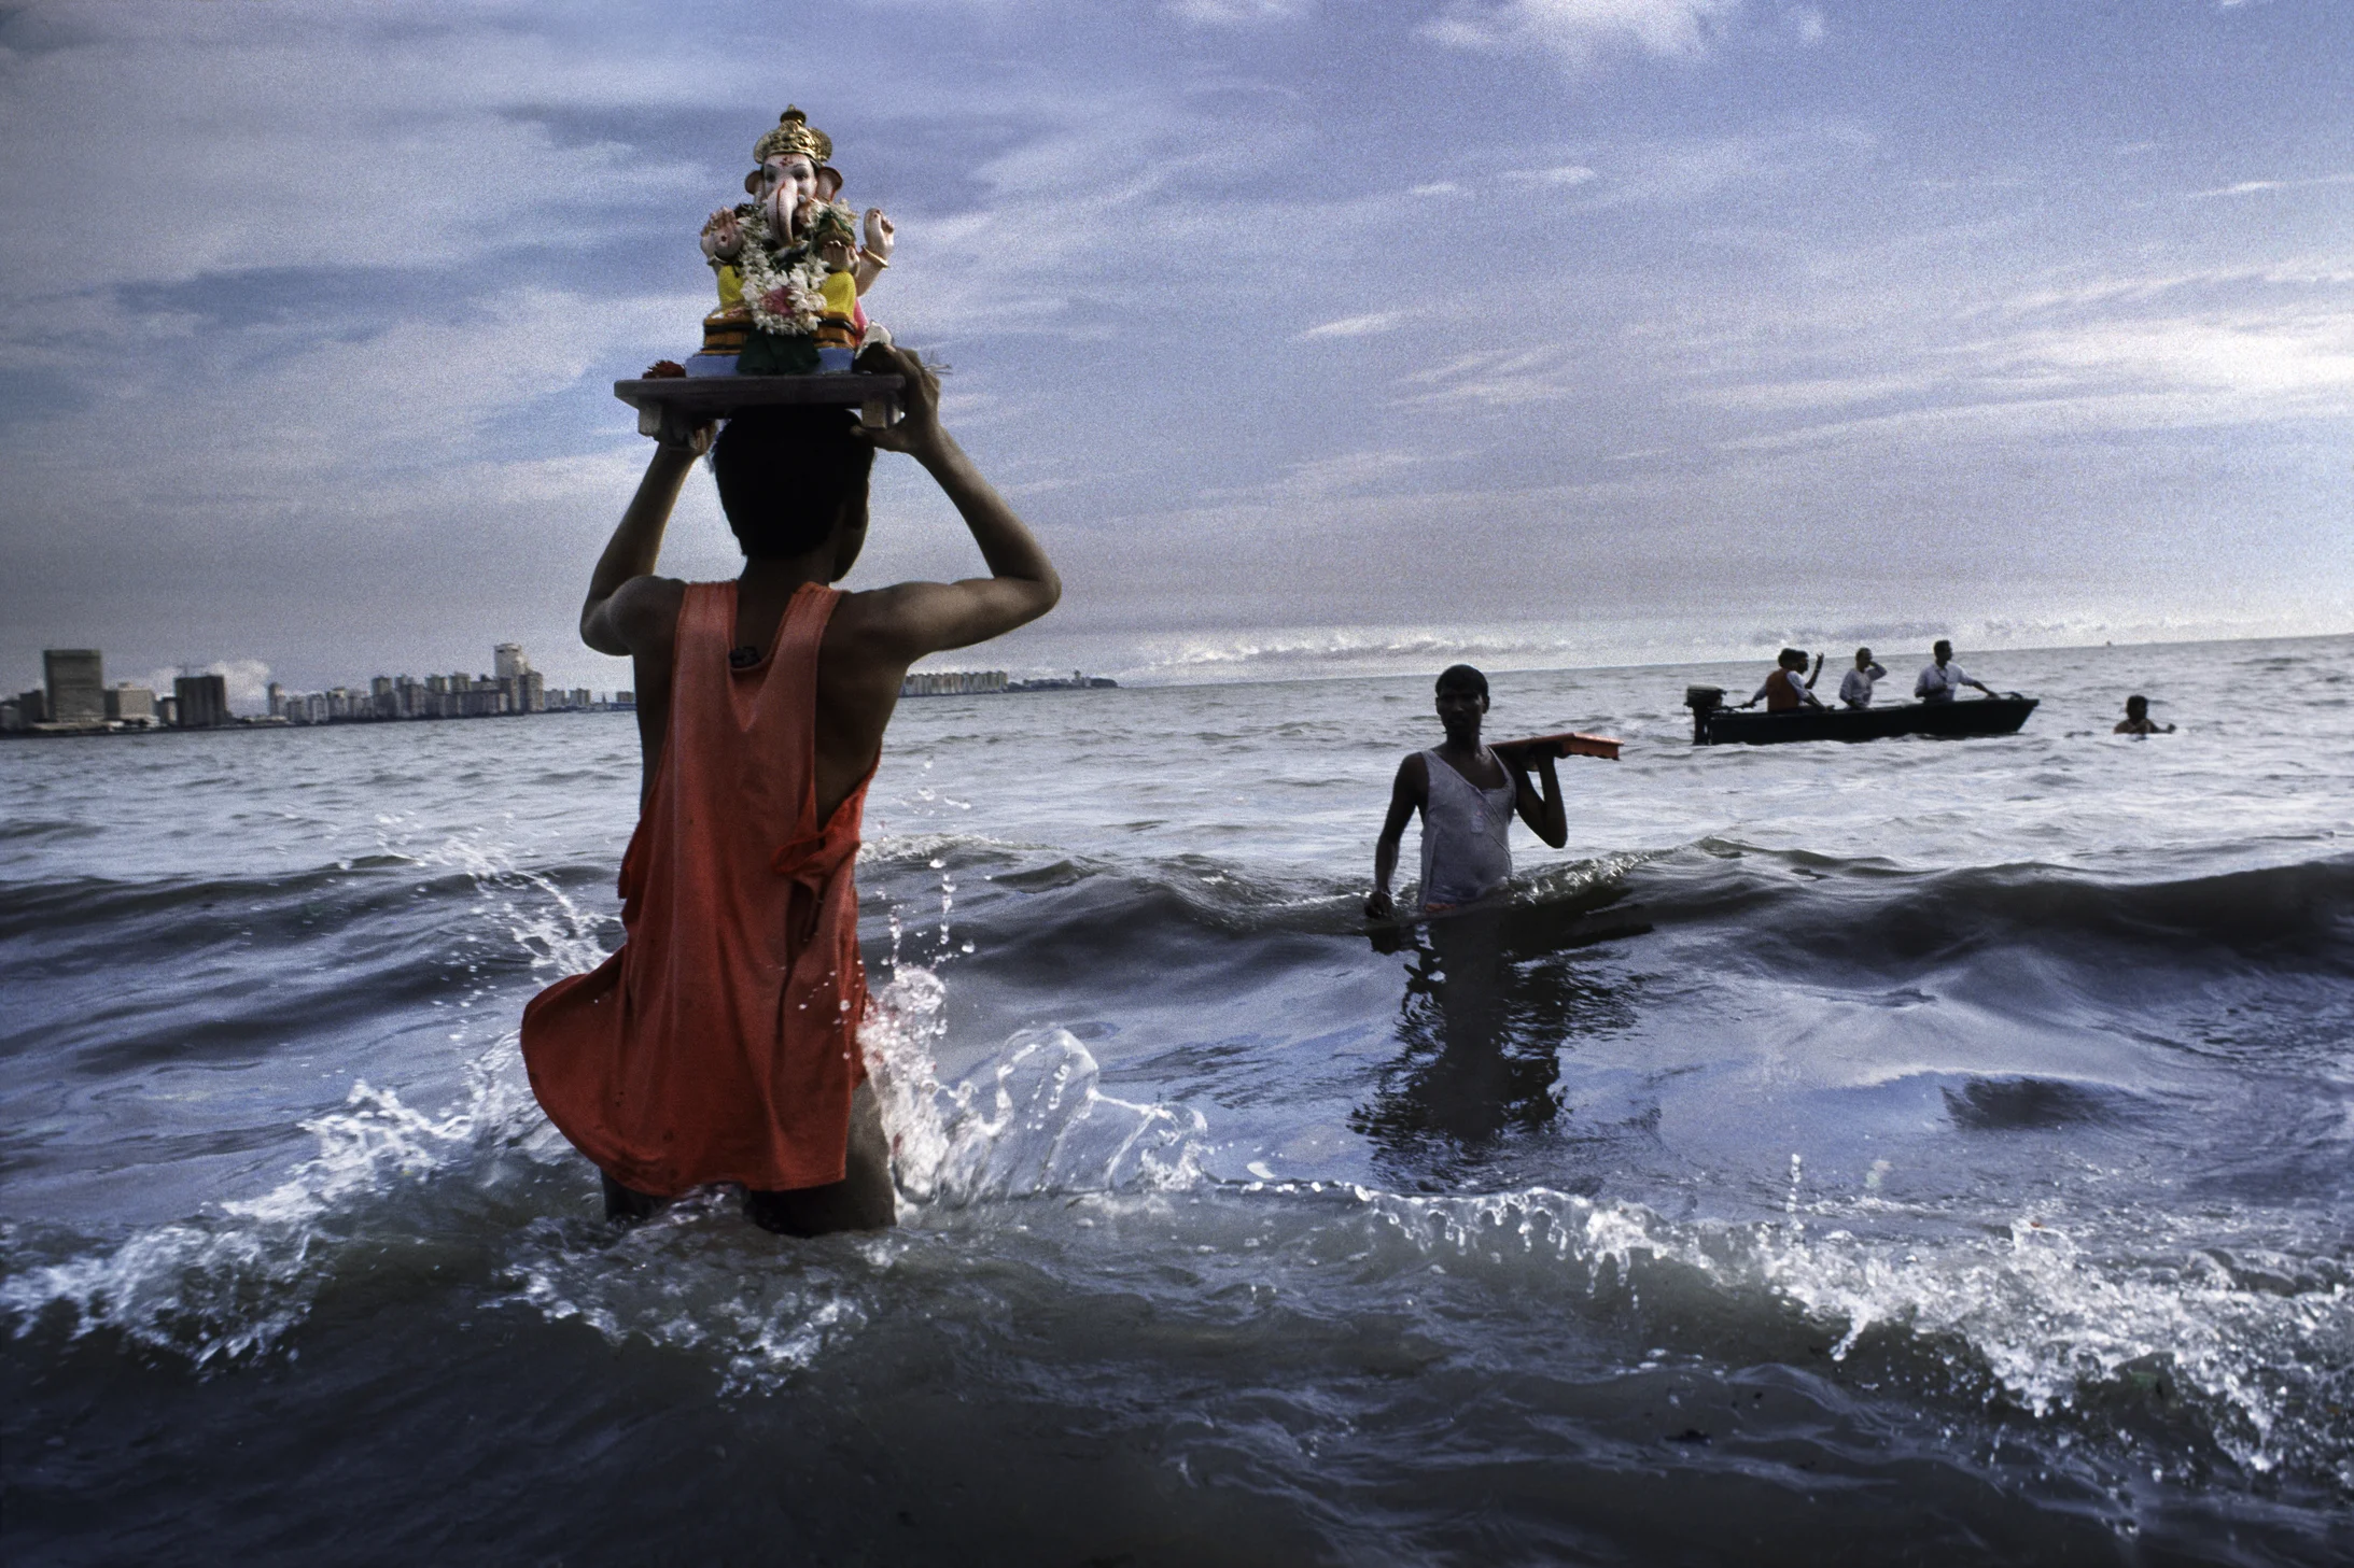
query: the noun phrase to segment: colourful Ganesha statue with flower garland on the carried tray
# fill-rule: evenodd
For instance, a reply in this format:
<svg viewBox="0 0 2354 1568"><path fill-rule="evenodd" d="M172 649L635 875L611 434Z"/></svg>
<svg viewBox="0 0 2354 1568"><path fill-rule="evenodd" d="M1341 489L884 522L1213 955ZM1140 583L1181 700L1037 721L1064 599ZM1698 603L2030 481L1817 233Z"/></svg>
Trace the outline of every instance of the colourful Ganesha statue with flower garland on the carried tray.
<svg viewBox="0 0 2354 1568"><path fill-rule="evenodd" d="M833 139L798 108L777 118L751 158L751 200L704 223L720 306L704 317L704 348L687 360L687 374L850 369L862 343L887 341L859 301L890 266L892 221L880 207L859 219L838 200L843 176L826 162Z"/></svg>

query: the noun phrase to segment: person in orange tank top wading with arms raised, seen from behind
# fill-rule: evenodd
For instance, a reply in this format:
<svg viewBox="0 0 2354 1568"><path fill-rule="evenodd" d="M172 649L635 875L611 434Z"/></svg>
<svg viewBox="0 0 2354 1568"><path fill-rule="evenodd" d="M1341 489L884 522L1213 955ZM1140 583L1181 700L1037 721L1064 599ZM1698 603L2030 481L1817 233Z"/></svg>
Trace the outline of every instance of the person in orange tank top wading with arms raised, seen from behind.
<svg viewBox="0 0 2354 1568"><path fill-rule="evenodd" d="M810 1237L895 1218L890 1150L857 1030L859 813L906 668L1036 621L1052 562L939 428L939 381L906 376L904 416L746 409L713 444L661 447L605 545L581 639L626 654L645 759L621 858L619 952L523 1009L532 1093L633 1220L711 1182L746 1190L765 1229ZM873 451L904 451L972 529L989 576L831 588L866 543ZM694 456L711 449L732 583L654 576Z"/></svg>

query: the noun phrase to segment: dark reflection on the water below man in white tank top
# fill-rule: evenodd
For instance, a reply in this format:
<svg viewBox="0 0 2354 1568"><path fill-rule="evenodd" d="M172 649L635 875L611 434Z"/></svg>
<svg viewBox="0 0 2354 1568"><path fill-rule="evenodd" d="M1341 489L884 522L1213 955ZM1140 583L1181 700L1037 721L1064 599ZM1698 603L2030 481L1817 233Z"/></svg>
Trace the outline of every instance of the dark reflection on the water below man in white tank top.
<svg viewBox="0 0 2354 1568"><path fill-rule="evenodd" d="M1509 1135L1549 1128L1561 1110L1561 1053L1580 1034L1634 1023L1627 983L1572 957L1650 931L1601 917L1622 896L1497 903L1372 933L1375 952L1405 954L1405 1048L1349 1126L1401 1182L1459 1187Z"/></svg>

